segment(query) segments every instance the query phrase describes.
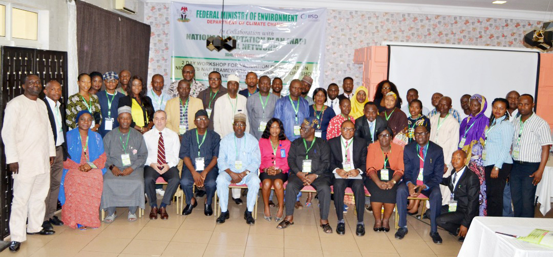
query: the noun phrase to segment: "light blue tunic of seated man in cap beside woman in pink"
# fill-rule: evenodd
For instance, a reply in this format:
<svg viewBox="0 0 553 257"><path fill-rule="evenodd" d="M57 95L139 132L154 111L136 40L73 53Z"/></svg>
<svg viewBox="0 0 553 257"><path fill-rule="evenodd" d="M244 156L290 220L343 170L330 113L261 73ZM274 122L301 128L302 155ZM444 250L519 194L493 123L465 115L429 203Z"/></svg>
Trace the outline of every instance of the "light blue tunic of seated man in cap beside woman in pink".
<svg viewBox="0 0 553 257"><path fill-rule="evenodd" d="M242 161L241 169L235 167L236 160ZM217 165L219 173L225 172L226 169L231 169L236 173L244 172L244 170L257 172L261 165L259 142L249 133L244 132L244 136L241 138L234 136L234 132L228 133L221 140Z"/></svg>

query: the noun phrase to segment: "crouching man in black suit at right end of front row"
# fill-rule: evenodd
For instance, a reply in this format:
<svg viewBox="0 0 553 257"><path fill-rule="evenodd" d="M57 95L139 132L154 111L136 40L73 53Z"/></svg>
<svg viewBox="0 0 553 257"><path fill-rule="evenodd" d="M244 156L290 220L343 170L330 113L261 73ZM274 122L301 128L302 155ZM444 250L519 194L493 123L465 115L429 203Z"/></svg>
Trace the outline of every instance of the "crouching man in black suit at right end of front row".
<svg viewBox="0 0 553 257"><path fill-rule="evenodd" d="M472 218L478 216L478 192L480 181L478 176L466 167L467 153L462 150L453 152L451 164L455 169L450 176L442 180L442 185L448 186L452 192L446 212L436 218L438 226L452 235L458 235L459 241L465 241ZM447 197L447 196L444 196Z"/></svg>

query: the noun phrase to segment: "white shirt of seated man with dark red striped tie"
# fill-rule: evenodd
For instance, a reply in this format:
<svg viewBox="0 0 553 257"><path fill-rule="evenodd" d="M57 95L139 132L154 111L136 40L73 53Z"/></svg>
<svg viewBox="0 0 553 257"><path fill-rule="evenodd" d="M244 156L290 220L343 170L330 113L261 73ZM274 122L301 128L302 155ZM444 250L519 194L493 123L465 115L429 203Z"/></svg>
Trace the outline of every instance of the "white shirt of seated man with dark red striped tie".
<svg viewBox="0 0 553 257"><path fill-rule="evenodd" d="M179 164L180 140L179 135L177 135L175 131L166 127L159 131L154 126L152 130L144 133L144 141L146 142L146 148L148 148L146 165L158 162L159 132L163 135L163 143L165 145L165 162L169 164L169 168L173 168Z"/></svg>

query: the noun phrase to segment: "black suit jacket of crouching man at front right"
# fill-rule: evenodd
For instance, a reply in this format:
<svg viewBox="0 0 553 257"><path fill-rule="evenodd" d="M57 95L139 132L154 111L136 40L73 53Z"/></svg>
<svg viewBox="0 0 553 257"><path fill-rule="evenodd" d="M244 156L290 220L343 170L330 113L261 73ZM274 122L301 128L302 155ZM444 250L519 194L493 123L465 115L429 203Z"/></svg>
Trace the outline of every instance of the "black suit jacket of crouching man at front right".
<svg viewBox="0 0 553 257"><path fill-rule="evenodd" d="M461 178L457 178L459 182L453 189L453 173L442 180L442 185L447 186L453 192L453 200L457 201L457 211L465 215L461 224L469 227L472 218L478 216L478 193L480 190L480 181L478 176L465 166L465 171ZM444 196L450 197L450 196Z"/></svg>

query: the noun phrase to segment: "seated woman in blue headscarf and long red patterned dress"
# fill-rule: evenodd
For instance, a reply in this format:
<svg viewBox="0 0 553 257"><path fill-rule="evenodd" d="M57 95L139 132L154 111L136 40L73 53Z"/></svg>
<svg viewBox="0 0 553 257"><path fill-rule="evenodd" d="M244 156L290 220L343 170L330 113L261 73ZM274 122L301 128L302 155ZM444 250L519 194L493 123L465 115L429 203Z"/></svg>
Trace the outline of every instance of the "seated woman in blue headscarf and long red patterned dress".
<svg viewBox="0 0 553 257"><path fill-rule="evenodd" d="M67 152L61 176L61 219L72 228L100 227L98 209L102 197L106 163L102 136L90 127L93 117L88 110L77 114L74 128L67 132Z"/></svg>

